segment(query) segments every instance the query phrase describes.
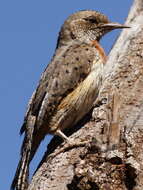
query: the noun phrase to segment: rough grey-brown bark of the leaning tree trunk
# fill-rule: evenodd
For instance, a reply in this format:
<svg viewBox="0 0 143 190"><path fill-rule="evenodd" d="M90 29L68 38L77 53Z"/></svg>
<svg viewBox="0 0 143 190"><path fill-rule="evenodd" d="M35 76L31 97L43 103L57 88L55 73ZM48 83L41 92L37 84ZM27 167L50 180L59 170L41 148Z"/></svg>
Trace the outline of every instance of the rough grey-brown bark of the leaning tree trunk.
<svg viewBox="0 0 143 190"><path fill-rule="evenodd" d="M71 135L83 144L55 149L54 138L29 190L143 189L143 0L134 1L126 25L94 109Z"/></svg>

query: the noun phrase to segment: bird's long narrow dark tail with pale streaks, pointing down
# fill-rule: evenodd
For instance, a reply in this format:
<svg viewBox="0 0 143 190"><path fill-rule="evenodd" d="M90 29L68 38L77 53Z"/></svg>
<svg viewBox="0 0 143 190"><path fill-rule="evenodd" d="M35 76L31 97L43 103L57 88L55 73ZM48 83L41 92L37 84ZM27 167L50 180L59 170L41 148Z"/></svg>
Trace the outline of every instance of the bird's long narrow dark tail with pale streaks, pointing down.
<svg viewBox="0 0 143 190"><path fill-rule="evenodd" d="M32 159L31 150L33 146L35 120L35 116L30 116L26 122L25 138L21 149L21 159L11 185L11 190L26 190L28 187L29 163Z"/></svg>

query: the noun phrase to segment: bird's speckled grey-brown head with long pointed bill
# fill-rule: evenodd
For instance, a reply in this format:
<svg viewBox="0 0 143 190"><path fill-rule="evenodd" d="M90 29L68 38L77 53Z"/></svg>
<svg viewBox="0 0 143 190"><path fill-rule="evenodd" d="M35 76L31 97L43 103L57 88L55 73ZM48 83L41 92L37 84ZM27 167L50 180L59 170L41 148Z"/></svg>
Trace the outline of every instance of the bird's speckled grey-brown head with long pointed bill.
<svg viewBox="0 0 143 190"><path fill-rule="evenodd" d="M82 42L99 41L104 34L118 28L129 27L110 22L105 15L96 11L79 11L69 16L63 24L58 45L65 45L75 39Z"/></svg>

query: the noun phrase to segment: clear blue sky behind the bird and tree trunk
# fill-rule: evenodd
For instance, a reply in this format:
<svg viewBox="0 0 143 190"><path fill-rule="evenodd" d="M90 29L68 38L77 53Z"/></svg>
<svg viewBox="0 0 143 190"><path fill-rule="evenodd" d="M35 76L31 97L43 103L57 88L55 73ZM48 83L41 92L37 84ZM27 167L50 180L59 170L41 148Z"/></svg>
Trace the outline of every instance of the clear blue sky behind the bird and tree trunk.
<svg viewBox="0 0 143 190"><path fill-rule="evenodd" d="M50 61L60 26L71 13L98 10L124 23L131 0L12 0L0 1L0 189L8 190L19 160L19 129L27 102ZM120 31L102 40L109 52ZM42 158L49 137L32 162Z"/></svg>

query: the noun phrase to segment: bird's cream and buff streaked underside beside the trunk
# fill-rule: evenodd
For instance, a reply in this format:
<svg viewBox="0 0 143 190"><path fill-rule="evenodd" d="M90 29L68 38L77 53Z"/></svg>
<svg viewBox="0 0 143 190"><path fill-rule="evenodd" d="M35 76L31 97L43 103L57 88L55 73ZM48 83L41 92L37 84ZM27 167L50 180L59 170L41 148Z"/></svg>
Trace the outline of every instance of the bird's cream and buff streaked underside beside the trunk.
<svg viewBox="0 0 143 190"><path fill-rule="evenodd" d="M65 129L76 124L87 114L97 98L102 83L103 61L95 60L92 71L79 86L68 94L57 108L52 118L53 130Z"/></svg>

